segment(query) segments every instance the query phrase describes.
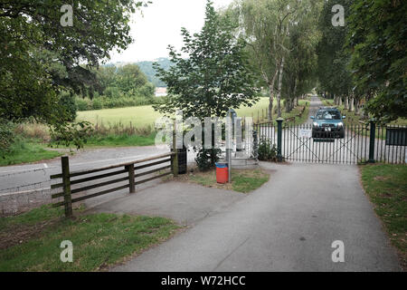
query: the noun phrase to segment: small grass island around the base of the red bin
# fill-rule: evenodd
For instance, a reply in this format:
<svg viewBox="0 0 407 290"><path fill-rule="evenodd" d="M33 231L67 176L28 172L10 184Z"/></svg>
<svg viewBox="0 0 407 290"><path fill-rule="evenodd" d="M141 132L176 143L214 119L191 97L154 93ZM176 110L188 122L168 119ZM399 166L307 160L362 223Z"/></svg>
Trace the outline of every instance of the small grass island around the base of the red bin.
<svg viewBox="0 0 407 290"><path fill-rule="evenodd" d="M216 171L205 172L194 170L178 179L202 185L206 188L226 189L242 193L249 193L259 189L264 183L269 181L270 174L261 169L232 169L232 182L220 184L216 182Z"/></svg>

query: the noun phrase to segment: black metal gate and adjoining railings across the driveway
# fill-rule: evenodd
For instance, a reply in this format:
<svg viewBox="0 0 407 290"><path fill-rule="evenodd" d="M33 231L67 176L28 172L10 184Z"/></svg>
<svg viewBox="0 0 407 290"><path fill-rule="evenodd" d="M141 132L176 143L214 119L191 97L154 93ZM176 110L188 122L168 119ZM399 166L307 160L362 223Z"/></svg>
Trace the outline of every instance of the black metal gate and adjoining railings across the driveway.
<svg viewBox="0 0 407 290"><path fill-rule="evenodd" d="M402 126L376 126L373 122L313 131L312 124L258 123L259 141L270 140L279 160L309 163L406 163L406 132Z"/></svg>

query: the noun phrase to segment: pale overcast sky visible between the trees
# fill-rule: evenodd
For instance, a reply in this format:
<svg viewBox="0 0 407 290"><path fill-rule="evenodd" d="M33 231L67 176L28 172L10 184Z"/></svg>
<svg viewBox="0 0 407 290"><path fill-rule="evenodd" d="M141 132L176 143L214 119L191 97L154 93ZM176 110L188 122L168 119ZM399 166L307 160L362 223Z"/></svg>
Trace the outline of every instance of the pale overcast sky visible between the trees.
<svg viewBox="0 0 407 290"><path fill-rule="evenodd" d="M111 53L110 63L152 61L167 57L166 47L182 47L181 27L196 33L204 25L206 0L151 0L143 15L134 15L131 35L135 39L125 52ZM232 0L213 0L214 7L227 6Z"/></svg>

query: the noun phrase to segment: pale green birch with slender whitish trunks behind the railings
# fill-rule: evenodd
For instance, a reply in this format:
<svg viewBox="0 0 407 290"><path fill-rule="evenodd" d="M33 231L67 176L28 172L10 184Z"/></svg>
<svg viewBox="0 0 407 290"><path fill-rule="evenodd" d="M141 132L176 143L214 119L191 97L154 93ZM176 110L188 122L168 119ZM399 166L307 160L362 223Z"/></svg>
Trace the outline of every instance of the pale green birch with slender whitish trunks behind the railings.
<svg viewBox="0 0 407 290"><path fill-rule="evenodd" d="M269 120L275 95L280 116L281 98L298 98L315 82L319 6L320 1L236 0L226 12L240 24L236 33L245 38L251 63L269 87Z"/></svg>

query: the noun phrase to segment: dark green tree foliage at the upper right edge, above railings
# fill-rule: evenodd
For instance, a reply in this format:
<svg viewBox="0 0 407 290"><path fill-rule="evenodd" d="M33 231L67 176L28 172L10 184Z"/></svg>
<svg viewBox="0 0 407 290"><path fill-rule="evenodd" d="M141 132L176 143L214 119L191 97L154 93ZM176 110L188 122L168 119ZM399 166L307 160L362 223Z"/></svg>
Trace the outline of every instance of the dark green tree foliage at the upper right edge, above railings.
<svg viewBox="0 0 407 290"><path fill-rule="evenodd" d="M407 2L355 0L347 47L367 111L382 121L407 117Z"/></svg>

